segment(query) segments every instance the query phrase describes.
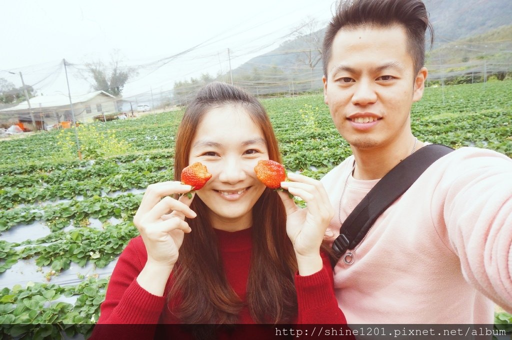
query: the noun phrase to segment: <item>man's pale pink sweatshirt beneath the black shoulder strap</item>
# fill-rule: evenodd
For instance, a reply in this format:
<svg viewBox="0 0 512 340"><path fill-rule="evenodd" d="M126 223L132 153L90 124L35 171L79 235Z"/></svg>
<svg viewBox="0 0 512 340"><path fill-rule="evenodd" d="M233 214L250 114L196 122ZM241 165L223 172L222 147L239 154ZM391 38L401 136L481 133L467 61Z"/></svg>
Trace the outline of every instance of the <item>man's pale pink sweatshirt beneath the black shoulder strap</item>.
<svg viewBox="0 0 512 340"><path fill-rule="evenodd" d="M349 175L354 157L322 183L339 233L378 180ZM334 268L348 324L492 324L494 300L512 312L512 160L462 147L431 165Z"/></svg>

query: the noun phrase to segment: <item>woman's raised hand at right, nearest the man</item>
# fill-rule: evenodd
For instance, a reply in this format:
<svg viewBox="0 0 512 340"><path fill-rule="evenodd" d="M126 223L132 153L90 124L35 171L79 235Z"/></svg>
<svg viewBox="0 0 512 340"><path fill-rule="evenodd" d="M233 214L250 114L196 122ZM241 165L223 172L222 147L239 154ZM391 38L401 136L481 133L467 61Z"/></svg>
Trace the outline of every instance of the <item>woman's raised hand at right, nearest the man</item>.
<svg viewBox="0 0 512 340"><path fill-rule="evenodd" d="M334 210L322 183L294 173L288 173L288 179L290 181L282 182L281 187L307 203L306 208L299 208L287 193L279 192L286 209L286 232L295 249L298 271L309 275L322 269L320 246Z"/></svg>

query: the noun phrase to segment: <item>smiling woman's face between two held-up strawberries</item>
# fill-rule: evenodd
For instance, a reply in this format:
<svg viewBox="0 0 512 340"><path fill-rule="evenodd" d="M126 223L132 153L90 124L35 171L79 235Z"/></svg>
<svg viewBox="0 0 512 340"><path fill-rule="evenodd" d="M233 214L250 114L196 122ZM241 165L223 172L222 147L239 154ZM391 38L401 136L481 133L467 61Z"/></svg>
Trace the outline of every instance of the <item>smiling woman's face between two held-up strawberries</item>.
<svg viewBox="0 0 512 340"><path fill-rule="evenodd" d="M261 129L239 105L209 110L192 140L188 163L201 162L212 175L197 195L214 228L236 231L252 223L252 207L265 190L254 173L269 159Z"/></svg>

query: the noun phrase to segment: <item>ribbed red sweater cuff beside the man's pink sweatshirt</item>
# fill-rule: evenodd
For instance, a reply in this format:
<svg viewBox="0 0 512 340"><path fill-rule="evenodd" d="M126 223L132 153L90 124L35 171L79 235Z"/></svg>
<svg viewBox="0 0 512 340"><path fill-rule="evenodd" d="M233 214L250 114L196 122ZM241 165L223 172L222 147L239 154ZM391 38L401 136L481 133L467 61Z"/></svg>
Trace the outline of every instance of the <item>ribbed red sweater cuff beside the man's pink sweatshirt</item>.
<svg viewBox="0 0 512 340"><path fill-rule="evenodd" d="M331 275L325 264L321 270L311 275L301 276L296 273L295 288L298 305L316 309L330 303L334 295Z"/></svg>

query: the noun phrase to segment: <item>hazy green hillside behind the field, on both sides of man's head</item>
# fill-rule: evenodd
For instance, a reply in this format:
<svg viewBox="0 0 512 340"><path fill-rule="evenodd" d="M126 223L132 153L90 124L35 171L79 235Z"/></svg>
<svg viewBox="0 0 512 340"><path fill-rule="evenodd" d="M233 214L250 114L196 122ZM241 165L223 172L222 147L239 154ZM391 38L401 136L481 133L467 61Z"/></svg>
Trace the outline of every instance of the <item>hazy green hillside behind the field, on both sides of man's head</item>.
<svg viewBox="0 0 512 340"><path fill-rule="evenodd" d="M434 27L434 45L426 48L427 86L473 83L512 77L512 1L424 0ZM278 48L232 70L232 81L258 97L317 91L323 87L320 58L325 27L311 21ZM427 42L430 40L426 39ZM229 82L224 73L215 79ZM205 82L179 82L174 100L187 98Z"/></svg>

